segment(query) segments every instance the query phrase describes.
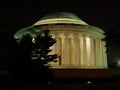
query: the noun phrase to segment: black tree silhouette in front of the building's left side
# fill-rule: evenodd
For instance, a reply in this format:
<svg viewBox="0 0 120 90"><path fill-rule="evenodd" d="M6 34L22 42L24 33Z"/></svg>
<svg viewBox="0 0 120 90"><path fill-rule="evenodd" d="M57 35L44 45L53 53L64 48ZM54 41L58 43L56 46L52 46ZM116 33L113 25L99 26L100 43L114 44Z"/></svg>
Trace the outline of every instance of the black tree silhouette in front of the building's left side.
<svg viewBox="0 0 120 90"><path fill-rule="evenodd" d="M25 82L46 82L52 78L49 62L56 62L58 54L49 55L50 47L56 43L49 30L32 38L25 35L19 42L18 76Z"/></svg>

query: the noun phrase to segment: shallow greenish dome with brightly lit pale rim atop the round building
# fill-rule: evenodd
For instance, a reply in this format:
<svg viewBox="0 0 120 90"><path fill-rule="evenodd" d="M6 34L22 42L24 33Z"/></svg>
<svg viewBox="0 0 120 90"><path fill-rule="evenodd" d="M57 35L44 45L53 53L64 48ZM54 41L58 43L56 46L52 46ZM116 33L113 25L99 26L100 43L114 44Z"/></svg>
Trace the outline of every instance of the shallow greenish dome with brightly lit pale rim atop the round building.
<svg viewBox="0 0 120 90"><path fill-rule="evenodd" d="M44 24L80 24L88 25L86 22L82 21L78 16L70 12L54 12L41 18L34 25L44 25Z"/></svg>

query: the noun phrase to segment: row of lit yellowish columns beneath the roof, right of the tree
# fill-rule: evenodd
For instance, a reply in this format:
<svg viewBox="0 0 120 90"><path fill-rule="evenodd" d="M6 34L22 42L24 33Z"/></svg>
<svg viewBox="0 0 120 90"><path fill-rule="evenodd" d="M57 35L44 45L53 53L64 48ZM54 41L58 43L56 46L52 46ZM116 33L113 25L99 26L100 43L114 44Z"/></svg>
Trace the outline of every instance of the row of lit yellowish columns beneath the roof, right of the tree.
<svg viewBox="0 0 120 90"><path fill-rule="evenodd" d="M58 62L51 63L53 67L107 67L105 42L101 38L74 32L52 33L52 37L57 42L50 47L50 54L60 55Z"/></svg>

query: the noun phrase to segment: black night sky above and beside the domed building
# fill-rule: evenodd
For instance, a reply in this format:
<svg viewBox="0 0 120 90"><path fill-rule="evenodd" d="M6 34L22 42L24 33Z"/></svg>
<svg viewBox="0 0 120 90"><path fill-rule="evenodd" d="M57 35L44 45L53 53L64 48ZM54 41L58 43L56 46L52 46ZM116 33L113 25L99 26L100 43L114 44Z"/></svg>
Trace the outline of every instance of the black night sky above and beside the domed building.
<svg viewBox="0 0 120 90"><path fill-rule="evenodd" d="M78 2L79 1L79 2ZM72 12L107 35L109 62L120 59L120 5L115 0L4 1L0 3L0 36L13 35L51 12Z"/></svg>

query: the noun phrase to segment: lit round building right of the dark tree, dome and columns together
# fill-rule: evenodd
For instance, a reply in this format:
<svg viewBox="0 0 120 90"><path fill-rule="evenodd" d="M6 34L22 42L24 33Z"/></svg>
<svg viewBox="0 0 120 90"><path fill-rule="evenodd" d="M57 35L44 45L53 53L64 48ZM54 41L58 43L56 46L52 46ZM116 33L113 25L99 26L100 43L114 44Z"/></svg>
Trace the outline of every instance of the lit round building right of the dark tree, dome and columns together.
<svg viewBox="0 0 120 90"><path fill-rule="evenodd" d="M57 40L51 54L59 54L55 68L107 68L104 31L90 26L75 14L51 13L34 24L42 30L49 29Z"/></svg>

